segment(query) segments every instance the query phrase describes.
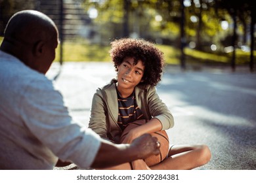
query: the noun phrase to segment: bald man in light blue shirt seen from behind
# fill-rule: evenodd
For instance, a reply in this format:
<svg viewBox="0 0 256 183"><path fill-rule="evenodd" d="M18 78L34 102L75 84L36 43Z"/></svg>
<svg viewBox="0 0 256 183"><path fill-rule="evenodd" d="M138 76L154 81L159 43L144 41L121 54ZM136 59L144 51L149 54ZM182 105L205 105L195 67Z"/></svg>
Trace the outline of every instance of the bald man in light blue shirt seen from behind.
<svg viewBox="0 0 256 183"><path fill-rule="evenodd" d="M0 169L53 169L58 159L103 168L159 153L156 138L112 144L75 123L45 77L58 31L35 10L12 16L0 48Z"/></svg>

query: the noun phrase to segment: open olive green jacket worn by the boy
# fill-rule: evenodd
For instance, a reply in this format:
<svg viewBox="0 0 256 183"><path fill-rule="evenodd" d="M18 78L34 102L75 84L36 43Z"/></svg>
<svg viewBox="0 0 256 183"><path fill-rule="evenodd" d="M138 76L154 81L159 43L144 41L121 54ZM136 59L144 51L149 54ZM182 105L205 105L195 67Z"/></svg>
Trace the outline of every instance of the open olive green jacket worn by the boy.
<svg viewBox="0 0 256 183"><path fill-rule="evenodd" d="M122 130L117 124L116 82L117 80L113 79L110 84L96 90L93 96L89 128L103 139L119 142ZM144 119L158 118L163 130L173 127L173 116L159 98L155 87L139 84L135 87L135 97Z"/></svg>

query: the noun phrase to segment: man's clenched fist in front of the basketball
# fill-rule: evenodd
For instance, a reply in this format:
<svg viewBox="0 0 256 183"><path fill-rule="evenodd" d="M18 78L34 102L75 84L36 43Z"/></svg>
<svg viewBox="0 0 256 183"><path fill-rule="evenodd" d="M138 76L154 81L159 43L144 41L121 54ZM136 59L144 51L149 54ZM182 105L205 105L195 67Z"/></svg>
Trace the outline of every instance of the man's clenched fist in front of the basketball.
<svg viewBox="0 0 256 183"><path fill-rule="evenodd" d="M156 137L152 137L152 135L146 133L131 143L131 150L137 152L139 159L145 159L152 154L160 154L159 144Z"/></svg>

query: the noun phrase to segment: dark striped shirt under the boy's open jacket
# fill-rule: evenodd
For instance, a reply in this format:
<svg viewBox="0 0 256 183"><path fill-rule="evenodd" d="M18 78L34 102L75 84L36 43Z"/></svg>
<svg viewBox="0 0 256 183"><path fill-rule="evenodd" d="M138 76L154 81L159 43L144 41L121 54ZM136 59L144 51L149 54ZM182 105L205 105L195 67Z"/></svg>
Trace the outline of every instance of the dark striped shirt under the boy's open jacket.
<svg viewBox="0 0 256 183"><path fill-rule="evenodd" d="M127 98L121 97L117 91L117 100L119 111L117 124L121 129L125 129L126 125L131 122L142 119L143 114L136 103L135 91Z"/></svg>

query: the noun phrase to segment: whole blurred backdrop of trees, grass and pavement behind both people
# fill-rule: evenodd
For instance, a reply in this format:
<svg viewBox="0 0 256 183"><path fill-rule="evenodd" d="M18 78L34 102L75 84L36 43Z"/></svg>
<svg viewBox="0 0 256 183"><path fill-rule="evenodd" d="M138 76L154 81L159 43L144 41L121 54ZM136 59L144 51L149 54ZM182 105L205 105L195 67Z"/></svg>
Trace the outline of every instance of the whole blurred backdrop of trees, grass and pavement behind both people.
<svg viewBox="0 0 256 183"><path fill-rule="evenodd" d="M207 144L211 161L198 169L256 169L253 1L0 0L0 43L9 18L24 9L58 26L47 77L75 120L88 124L96 88L116 75L110 41L143 38L167 63L158 93L175 118L171 144Z"/></svg>

